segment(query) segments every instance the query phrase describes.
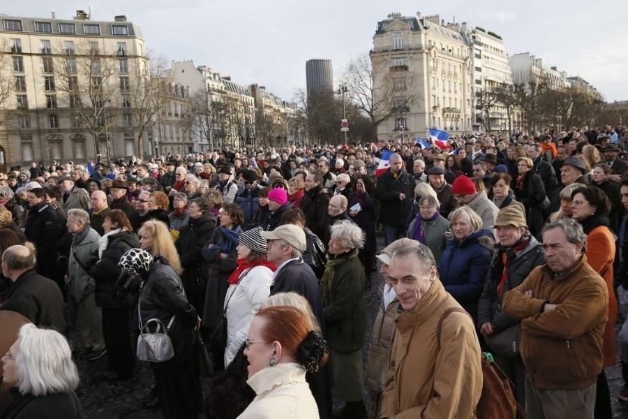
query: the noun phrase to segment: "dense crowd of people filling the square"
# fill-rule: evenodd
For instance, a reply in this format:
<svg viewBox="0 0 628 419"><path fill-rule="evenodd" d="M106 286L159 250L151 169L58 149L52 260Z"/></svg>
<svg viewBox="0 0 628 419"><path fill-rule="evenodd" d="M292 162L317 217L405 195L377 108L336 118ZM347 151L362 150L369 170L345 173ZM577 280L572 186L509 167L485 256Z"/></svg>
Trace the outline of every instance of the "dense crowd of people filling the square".
<svg viewBox="0 0 628 419"><path fill-rule="evenodd" d="M529 418L611 418L628 130L608 133L11 168L2 418L83 417L75 361L103 357L112 382L147 360L165 418L474 418L483 353Z"/></svg>

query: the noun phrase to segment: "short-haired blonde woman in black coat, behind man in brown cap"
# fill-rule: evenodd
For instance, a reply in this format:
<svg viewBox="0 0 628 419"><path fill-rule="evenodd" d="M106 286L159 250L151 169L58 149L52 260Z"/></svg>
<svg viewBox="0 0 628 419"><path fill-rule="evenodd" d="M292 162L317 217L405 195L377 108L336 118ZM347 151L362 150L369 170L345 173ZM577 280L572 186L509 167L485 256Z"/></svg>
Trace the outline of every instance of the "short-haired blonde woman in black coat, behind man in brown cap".
<svg viewBox="0 0 628 419"><path fill-rule="evenodd" d="M519 174L512 189L518 202L525 207L525 219L528 221L530 233L538 237L545 223L545 212L549 209L549 200L546 200L543 180L534 173L533 167L532 159L528 157L517 159Z"/></svg>

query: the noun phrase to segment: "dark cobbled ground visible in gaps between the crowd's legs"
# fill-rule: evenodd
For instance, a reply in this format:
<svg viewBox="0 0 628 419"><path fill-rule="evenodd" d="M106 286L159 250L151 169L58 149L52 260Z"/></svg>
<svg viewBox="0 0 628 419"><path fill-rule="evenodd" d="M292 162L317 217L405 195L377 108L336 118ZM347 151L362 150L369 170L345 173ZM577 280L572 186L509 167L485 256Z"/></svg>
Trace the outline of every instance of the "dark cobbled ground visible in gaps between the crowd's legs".
<svg viewBox="0 0 628 419"><path fill-rule="evenodd" d="M381 244L380 244L381 247ZM373 274L373 286L366 293L366 330L370 331L380 304L382 279ZM619 327L617 328L619 331ZM370 332L364 337L364 360L366 362ZM90 363L79 361L81 385L78 396L81 399L86 418L89 419L126 419L126 418L161 418L158 409L144 409L141 399L146 395L153 382L153 374L147 365L138 365L133 379L122 383L108 383L102 376L107 369L106 357ZM613 418L628 418L628 404L617 400L622 386L619 367L606 369L613 401ZM365 395L365 400L368 397ZM367 402L368 404L368 402ZM339 404L335 404L338 406ZM370 406L368 406L370 409Z"/></svg>

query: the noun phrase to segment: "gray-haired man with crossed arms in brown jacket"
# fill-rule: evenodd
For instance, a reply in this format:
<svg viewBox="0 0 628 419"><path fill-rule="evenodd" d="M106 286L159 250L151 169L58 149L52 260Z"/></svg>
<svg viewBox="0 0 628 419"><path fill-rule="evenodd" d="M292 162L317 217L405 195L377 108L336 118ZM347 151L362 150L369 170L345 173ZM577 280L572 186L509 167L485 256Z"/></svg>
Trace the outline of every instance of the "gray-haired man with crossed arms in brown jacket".
<svg viewBox="0 0 628 419"><path fill-rule="evenodd" d="M577 221L549 223L541 234L547 263L503 300L504 312L521 320L525 412L592 419L608 288L587 263L587 236Z"/></svg>

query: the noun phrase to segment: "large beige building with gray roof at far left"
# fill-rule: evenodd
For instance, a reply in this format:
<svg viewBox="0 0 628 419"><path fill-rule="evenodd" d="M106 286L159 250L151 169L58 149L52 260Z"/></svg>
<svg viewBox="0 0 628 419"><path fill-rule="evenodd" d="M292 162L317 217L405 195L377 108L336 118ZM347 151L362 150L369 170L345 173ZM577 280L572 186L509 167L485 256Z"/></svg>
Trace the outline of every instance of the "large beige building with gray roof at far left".
<svg viewBox="0 0 628 419"><path fill-rule="evenodd" d="M87 161L135 154L129 96L134 69L145 68L137 24L117 16L93 21L0 18L0 147L10 164ZM145 140L146 141L146 140Z"/></svg>

